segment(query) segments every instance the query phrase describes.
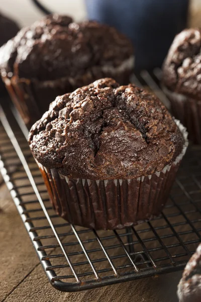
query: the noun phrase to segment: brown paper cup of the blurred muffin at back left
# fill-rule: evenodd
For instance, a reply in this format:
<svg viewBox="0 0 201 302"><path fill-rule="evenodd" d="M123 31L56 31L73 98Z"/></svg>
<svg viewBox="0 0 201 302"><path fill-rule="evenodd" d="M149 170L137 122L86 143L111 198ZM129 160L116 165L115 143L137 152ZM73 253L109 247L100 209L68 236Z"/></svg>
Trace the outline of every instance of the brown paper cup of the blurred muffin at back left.
<svg viewBox="0 0 201 302"><path fill-rule="evenodd" d="M41 118L51 102L59 95L74 91L102 78L114 78L121 85L130 82L133 72L134 57L122 62L118 67L93 66L90 71L74 78L64 77L52 81L23 79L15 75L12 78L2 77L10 97L21 114L28 128Z"/></svg>

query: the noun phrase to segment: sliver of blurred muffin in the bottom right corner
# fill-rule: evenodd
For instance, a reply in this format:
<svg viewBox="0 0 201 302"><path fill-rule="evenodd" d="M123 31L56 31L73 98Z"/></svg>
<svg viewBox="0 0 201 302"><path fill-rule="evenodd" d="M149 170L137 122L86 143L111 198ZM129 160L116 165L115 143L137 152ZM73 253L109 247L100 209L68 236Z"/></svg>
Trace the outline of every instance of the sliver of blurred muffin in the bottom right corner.
<svg viewBox="0 0 201 302"><path fill-rule="evenodd" d="M201 300L201 243L188 261L178 284L179 302Z"/></svg>

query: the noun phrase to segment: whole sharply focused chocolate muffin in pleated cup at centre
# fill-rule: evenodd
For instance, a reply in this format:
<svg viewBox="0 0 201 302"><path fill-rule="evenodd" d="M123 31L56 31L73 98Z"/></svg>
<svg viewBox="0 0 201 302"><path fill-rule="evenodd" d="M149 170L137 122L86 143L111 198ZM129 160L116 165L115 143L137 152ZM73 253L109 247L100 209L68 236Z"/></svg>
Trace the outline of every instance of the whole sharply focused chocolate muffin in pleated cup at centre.
<svg viewBox="0 0 201 302"><path fill-rule="evenodd" d="M57 213L95 229L158 215L187 146L155 96L109 78L57 97L29 143Z"/></svg>

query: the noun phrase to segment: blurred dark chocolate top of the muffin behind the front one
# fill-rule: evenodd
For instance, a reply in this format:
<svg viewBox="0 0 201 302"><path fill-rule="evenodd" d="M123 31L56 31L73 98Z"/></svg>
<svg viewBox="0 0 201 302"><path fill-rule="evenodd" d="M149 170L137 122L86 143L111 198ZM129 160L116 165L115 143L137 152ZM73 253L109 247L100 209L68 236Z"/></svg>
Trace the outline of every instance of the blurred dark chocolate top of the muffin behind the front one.
<svg viewBox="0 0 201 302"><path fill-rule="evenodd" d="M48 81L75 77L88 69L119 66L133 55L131 42L115 28L94 21L73 23L67 16L49 15L0 50L3 75Z"/></svg>

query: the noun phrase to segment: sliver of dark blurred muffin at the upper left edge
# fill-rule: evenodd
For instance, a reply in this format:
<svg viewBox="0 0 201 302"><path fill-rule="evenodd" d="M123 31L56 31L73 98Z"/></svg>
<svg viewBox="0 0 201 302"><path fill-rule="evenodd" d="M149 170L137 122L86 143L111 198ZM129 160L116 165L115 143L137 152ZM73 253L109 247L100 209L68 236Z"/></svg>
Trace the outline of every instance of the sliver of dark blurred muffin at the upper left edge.
<svg viewBox="0 0 201 302"><path fill-rule="evenodd" d="M13 38L20 30L17 23L0 13L0 46ZM4 91L4 84L0 80L0 91Z"/></svg>

